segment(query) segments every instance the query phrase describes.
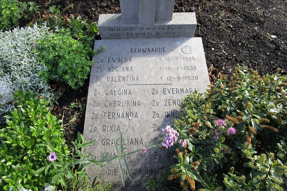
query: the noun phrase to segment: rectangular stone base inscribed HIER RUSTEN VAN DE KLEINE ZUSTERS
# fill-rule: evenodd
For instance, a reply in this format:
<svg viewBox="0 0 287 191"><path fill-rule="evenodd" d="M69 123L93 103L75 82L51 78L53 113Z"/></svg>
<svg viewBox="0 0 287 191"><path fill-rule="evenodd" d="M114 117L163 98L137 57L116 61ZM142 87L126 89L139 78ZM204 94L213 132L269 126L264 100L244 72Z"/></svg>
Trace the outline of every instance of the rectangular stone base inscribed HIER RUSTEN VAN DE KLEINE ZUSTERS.
<svg viewBox="0 0 287 191"><path fill-rule="evenodd" d="M102 39L193 37L196 25L195 13L173 13L171 21L153 25L124 22L121 14L99 15L98 22Z"/></svg>

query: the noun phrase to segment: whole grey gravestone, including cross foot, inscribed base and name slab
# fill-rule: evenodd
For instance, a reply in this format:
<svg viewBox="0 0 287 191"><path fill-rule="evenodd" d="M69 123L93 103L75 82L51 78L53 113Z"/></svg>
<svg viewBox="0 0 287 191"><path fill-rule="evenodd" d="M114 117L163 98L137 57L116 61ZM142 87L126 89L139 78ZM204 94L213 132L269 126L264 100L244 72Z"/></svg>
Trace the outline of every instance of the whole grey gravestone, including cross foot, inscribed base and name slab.
<svg viewBox="0 0 287 191"><path fill-rule="evenodd" d="M194 13L172 14L174 0L120 0L120 5L121 14L100 15L103 40L94 46L106 49L93 58L84 137L96 140L86 151L97 160L116 155L113 138L119 147L126 130L125 153L157 143L165 135L161 129L182 112L182 99L209 84L201 38L192 38ZM86 172L92 180L104 178L113 190L145 190L145 181L161 176L174 154L153 147L127 155L131 180L122 162L124 184L116 160Z"/></svg>

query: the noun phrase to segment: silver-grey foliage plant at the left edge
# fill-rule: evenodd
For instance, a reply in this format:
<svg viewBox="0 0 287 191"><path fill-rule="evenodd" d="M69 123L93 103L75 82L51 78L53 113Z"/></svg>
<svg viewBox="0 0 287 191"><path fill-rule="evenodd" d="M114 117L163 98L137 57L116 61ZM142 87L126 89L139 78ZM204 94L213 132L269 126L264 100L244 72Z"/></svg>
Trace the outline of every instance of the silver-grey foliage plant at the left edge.
<svg viewBox="0 0 287 191"><path fill-rule="evenodd" d="M37 27L37 23L33 27L0 31L0 124L5 123L4 114L14 108L15 90L32 90L38 97L53 100L51 87L38 75L47 68L37 62L34 52L35 42L49 34L46 26Z"/></svg>

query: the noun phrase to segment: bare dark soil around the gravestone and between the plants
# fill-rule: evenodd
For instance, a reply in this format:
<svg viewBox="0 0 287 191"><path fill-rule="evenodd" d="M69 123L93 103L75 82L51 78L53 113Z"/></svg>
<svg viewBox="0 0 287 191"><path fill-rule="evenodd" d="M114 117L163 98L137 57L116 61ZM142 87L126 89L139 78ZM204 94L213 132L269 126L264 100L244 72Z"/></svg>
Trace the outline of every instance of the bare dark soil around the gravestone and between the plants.
<svg viewBox="0 0 287 191"><path fill-rule="evenodd" d="M22 1L22 0L20 0ZM30 1L30 0L28 0ZM41 15L49 6L59 5L59 0L35 0ZM174 12L195 12L197 29L195 37L201 37L211 83L218 72L228 76L237 64L244 64L259 74L274 73L281 68L287 72L287 1L286 0L175 0ZM62 7L61 14L80 15L98 21L99 14L120 13L119 0L71 0ZM100 39L100 36L97 37ZM65 126L67 144L83 132L85 101L89 80L79 90L66 87L52 114L63 123L83 113L77 120ZM71 105L71 103L75 105Z"/></svg>

